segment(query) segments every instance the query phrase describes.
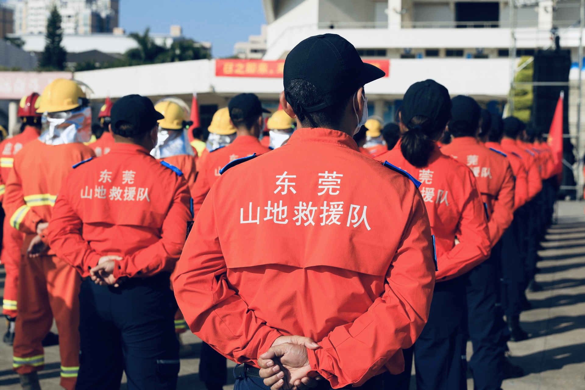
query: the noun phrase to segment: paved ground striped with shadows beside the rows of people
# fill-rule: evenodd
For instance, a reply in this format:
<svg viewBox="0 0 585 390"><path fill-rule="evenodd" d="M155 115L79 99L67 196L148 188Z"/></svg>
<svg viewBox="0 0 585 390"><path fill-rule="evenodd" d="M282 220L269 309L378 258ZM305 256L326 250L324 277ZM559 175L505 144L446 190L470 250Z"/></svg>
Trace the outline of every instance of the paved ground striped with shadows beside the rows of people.
<svg viewBox="0 0 585 390"><path fill-rule="evenodd" d="M504 382L504 390L585 390L585 202L559 202L558 221L550 227L544 250L539 253L541 272L536 275L543 291L528 295L533 309L522 313L522 327L531 339L509 343L512 362L526 371L522 378ZM4 268L0 268L0 294ZM2 333L5 332L0 326ZM194 353L181 360L178 389L202 390L199 381L200 340L184 334ZM471 356L471 351L468 352ZM59 350L46 348L46 362L40 373L44 390L60 389ZM229 364L233 367L233 364ZM229 370L229 369L228 369ZM233 388L233 377L225 389ZM469 379L469 389L473 381ZM18 376L12 372L12 349L0 343L0 388L16 390ZM415 389L412 381L412 389ZM121 389L126 389L122 384Z"/></svg>

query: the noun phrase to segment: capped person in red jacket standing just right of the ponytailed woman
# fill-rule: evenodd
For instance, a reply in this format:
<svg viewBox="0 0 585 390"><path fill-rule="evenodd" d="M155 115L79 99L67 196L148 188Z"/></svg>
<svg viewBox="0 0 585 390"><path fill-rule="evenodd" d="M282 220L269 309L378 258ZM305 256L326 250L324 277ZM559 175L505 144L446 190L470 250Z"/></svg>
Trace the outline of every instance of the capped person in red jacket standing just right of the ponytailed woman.
<svg viewBox="0 0 585 390"><path fill-rule="evenodd" d="M504 358L500 350L503 321L496 306L497 289L500 288L497 278L501 247L498 241L513 219L514 175L503 153L487 149L477 140L481 119L481 108L477 102L461 95L451 99L451 102L452 119L448 126L453 140L441 151L473 171L486 207L493 248L490 258L469 271L465 282L467 325L473 344L469 366L474 388L498 390L504 379L500 370Z"/></svg>

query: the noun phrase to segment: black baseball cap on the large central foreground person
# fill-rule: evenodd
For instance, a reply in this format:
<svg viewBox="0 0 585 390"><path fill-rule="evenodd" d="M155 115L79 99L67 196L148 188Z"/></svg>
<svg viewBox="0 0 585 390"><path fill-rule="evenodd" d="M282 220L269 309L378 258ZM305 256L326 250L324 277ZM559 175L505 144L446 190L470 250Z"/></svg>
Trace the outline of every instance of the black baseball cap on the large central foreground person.
<svg viewBox="0 0 585 390"><path fill-rule="evenodd" d="M315 86L323 101L306 112L315 112L338 103L370 81L384 77L378 67L366 64L353 44L338 34L321 34L301 41L284 61L284 90L300 78Z"/></svg>

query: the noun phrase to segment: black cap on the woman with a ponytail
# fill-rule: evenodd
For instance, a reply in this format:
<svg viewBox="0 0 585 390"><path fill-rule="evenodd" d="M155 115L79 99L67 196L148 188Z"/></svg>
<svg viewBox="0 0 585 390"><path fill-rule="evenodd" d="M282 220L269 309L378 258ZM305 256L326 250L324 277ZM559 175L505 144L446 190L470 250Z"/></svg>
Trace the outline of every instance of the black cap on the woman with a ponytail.
<svg viewBox="0 0 585 390"><path fill-rule="evenodd" d="M433 127L445 127L451 119L451 98L449 91L435 80L419 81L412 84L400 106L402 123L408 125L417 115L426 116L435 123Z"/></svg>

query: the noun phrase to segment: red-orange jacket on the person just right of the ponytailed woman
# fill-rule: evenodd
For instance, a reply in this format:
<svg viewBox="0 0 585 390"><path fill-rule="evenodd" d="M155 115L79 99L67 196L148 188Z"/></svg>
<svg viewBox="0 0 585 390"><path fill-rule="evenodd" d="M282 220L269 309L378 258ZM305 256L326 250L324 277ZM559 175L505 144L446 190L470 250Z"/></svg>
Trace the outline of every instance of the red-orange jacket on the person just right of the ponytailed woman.
<svg viewBox="0 0 585 390"><path fill-rule="evenodd" d="M474 137L455 137L443 154L467 165L486 204L491 245L500 240L514 219L514 173L503 154L482 146Z"/></svg>

